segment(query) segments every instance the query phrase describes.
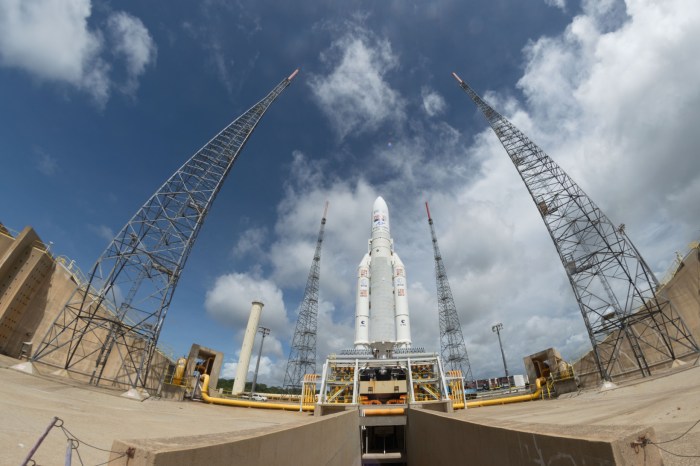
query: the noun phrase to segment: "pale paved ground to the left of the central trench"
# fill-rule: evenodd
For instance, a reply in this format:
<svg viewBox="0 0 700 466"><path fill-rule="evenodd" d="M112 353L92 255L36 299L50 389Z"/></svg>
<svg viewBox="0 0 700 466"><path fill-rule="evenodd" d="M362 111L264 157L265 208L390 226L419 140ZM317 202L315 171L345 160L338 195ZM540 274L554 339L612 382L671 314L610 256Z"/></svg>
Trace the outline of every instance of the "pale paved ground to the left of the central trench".
<svg viewBox="0 0 700 466"><path fill-rule="evenodd" d="M230 408L199 402L122 398L120 392L8 369L18 361L0 356L0 464L19 465L54 416L90 445L109 449L114 439L233 432L312 420L289 411ZM40 465L63 465L66 437L51 430L34 456ZM80 446L82 462L97 465L109 454ZM74 454L73 464L81 464Z"/></svg>

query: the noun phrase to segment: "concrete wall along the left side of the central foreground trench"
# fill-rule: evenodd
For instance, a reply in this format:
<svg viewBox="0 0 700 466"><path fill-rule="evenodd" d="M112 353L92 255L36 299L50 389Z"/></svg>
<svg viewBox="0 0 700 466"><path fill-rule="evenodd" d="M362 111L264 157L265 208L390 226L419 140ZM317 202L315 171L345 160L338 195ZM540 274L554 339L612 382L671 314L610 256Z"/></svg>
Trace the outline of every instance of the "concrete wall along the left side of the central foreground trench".
<svg viewBox="0 0 700 466"><path fill-rule="evenodd" d="M235 408L233 408L235 409ZM331 414L303 424L290 424L193 437L116 440L111 450L133 448L133 458L118 458L114 466L260 466L339 465L361 461L357 410ZM424 463L430 464L430 463Z"/></svg>

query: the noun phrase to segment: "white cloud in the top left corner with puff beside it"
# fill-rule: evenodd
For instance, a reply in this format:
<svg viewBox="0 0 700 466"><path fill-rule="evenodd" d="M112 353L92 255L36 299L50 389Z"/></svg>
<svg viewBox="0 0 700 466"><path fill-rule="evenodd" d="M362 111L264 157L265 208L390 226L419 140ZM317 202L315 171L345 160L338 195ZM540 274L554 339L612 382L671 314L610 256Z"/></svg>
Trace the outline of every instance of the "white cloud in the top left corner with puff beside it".
<svg viewBox="0 0 700 466"><path fill-rule="evenodd" d="M126 59L125 88L155 58L155 45L140 20L114 13L107 21L114 40L90 27L90 0L8 0L0 4L0 64L50 82L65 83L89 94L98 105L109 99L113 64L105 49Z"/></svg>

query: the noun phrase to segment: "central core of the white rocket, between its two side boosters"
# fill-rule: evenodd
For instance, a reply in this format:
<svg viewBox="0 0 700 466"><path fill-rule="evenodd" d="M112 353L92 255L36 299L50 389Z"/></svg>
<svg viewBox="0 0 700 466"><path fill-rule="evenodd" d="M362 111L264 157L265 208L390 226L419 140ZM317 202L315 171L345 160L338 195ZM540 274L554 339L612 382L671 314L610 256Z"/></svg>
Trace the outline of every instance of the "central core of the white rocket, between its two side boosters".
<svg viewBox="0 0 700 466"><path fill-rule="evenodd" d="M381 196L374 201L372 207L372 237L369 254L369 341L371 344L394 342L396 330L389 208Z"/></svg>

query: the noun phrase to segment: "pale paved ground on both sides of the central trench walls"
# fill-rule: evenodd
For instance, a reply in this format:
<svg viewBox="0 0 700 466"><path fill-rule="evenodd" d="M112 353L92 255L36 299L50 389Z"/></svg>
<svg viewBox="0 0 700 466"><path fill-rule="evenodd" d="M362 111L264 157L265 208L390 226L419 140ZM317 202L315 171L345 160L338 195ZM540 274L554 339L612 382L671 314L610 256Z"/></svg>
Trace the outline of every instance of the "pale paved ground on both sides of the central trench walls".
<svg viewBox="0 0 700 466"><path fill-rule="evenodd" d="M240 431L311 420L309 414L171 402L137 402L118 393L71 381L32 376L7 367L0 356L0 464L19 465L54 416L79 439L109 449L114 439L157 438ZM573 394L566 399L474 408L454 414L474 422L527 424L651 426L657 440L673 439L700 420L700 366L632 382L614 390ZM682 455L662 453L671 466L700 465L700 424L681 439L660 445ZM655 448L653 446L647 448ZM64 464L66 438L52 429L35 455L37 464ZM107 461L108 454L79 448L85 465ZM81 464L74 457L73 464Z"/></svg>

